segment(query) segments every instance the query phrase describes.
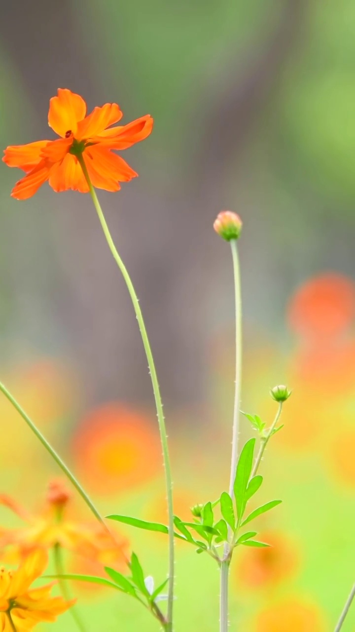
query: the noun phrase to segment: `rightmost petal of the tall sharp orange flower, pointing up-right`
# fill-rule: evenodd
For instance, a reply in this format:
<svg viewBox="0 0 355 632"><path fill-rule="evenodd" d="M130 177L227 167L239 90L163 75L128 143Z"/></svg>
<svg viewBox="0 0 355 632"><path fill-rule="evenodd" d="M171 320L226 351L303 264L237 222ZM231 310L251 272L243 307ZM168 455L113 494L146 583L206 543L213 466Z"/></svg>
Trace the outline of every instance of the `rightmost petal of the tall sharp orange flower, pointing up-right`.
<svg viewBox="0 0 355 632"><path fill-rule="evenodd" d="M105 130L93 142L102 143L111 149L128 149L131 145L144 140L150 135L153 128L153 119L149 114L128 123L128 125L112 127Z"/></svg>

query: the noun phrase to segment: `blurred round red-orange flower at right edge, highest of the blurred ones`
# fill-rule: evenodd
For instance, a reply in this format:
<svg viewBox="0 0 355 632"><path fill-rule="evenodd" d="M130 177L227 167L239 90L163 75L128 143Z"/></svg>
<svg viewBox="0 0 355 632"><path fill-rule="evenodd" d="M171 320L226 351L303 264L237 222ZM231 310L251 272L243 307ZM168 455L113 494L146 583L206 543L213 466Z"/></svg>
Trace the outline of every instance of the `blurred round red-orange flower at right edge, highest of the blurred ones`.
<svg viewBox="0 0 355 632"><path fill-rule="evenodd" d="M306 281L288 307L290 327L306 339L318 340L344 332L355 318L355 284L328 272Z"/></svg>

